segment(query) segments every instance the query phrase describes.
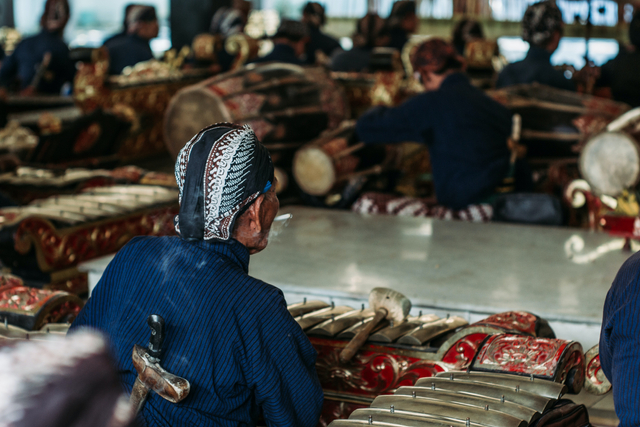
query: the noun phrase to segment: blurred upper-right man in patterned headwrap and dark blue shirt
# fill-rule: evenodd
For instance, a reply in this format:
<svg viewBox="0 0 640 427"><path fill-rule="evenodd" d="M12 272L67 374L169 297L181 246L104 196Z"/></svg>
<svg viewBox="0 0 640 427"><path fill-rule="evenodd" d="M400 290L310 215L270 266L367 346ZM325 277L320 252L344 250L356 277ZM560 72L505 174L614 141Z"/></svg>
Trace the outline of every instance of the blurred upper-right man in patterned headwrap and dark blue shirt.
<svg viewBox="0 0 640 427"><path fill-rule="evenodd" d="M529 52L522 61L504 67L496 87L536 82L575 90L575 83L551 65L551 55L560 44L563 29L562 12L555 1L545 0L529 6L522 18L522 39L529 43Z"/></svg>

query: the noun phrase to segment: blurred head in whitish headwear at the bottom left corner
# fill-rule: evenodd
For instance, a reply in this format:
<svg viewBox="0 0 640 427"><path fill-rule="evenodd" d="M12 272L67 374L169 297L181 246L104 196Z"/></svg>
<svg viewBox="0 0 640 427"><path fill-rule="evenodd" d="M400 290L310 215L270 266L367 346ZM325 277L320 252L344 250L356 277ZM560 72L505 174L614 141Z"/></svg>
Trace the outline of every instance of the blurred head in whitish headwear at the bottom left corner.
<svg viewBox="0 0 640 427"><path fill-rule="evenodd" d="M0 426L132 425L107 344L93 332L0 348Z"/></svg>

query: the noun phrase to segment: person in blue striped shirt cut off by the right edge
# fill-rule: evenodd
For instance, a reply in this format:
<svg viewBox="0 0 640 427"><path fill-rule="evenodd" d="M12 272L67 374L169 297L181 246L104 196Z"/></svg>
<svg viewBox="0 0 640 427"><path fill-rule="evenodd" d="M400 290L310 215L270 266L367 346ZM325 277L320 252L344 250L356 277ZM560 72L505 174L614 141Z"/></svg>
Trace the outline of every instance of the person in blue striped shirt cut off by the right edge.
<svg viewBox="0 0 640 427"><path fill-rule="evenodd" d="M620 268L604 302L600 330L602 372L613 386L620 427L640 425L640 252Z"/></svg>

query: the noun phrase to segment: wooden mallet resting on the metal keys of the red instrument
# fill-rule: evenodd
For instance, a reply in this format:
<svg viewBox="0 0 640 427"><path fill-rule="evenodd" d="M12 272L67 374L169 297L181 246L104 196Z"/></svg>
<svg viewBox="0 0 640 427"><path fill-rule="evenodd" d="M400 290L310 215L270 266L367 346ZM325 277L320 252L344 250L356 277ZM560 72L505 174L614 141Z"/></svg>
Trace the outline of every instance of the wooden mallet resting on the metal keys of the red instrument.
<svg viewBox="0 0 640 427"><path fill-rule="evenodd" d="M411 311L411 301L400 292L388 288L373 288L369 294L369 307L375 311L373 320L354 336L340 352L340 362L347 363L367 341L371 331L383 319L395 323L404 321Z"/></svg>

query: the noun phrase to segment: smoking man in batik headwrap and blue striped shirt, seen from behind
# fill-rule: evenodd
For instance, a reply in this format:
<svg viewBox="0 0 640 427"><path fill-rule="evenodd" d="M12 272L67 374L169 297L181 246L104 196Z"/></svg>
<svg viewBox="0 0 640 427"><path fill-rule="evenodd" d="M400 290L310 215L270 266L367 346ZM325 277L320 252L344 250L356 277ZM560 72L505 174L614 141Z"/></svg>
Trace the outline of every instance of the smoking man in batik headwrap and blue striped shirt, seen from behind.
<svg viewBox="0 0 640 427"><path fill-rule="evenodd" d="M176 161L178 236L137 237L118 252L71 329L103 331L128 391L146 319L166 323L162 366L191 383L179 404L151 394L147 426L315 427L316 352L282 292L248 275L278 211L274 169L249 127L210 126Z"/></svg>

